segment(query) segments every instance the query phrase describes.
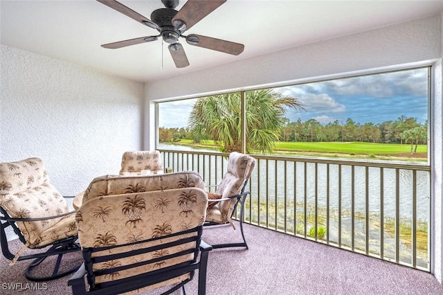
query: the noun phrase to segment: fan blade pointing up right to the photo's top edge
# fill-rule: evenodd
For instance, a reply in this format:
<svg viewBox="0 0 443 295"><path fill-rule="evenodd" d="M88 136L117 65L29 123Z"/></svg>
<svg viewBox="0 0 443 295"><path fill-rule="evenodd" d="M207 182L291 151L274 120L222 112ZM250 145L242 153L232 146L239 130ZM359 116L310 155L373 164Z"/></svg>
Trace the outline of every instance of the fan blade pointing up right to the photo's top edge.
<svg viewBox="0 0 443 295"><path fill-rule="evenodd" d="M227 0L188 0L172 19L172 25L184 32L197 24Z"/></svg>

